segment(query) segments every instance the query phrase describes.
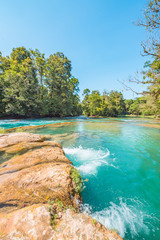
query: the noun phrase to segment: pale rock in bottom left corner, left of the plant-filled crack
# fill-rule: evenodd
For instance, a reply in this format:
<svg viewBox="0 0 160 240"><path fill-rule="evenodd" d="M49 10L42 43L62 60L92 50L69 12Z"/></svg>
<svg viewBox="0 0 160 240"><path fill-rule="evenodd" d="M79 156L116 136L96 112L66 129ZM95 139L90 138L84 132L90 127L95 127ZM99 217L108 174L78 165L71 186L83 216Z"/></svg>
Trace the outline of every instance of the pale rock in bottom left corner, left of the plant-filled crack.
<svg viewBox="0 0 160 240"><path fill-rule="evenodd" d="M44 205L33 205L10 214L0 214L0 239L51 240L53 234L50 213Z"/></svg>

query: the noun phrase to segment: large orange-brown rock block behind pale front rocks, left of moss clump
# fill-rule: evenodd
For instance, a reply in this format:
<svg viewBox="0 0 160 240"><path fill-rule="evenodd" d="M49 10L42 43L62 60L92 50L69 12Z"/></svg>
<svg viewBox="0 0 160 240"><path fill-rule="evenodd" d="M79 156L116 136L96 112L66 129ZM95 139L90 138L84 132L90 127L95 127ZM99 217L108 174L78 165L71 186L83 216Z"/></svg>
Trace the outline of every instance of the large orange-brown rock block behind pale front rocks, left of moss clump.
<svg viewBox="0 0 160 240"><path fill-rule="evenodd" d="M3 174L0 183L0 212L13 211L35 203L47 203L56 198L65 205L74 205L71 166L66 163L39 164Z"/></svg>

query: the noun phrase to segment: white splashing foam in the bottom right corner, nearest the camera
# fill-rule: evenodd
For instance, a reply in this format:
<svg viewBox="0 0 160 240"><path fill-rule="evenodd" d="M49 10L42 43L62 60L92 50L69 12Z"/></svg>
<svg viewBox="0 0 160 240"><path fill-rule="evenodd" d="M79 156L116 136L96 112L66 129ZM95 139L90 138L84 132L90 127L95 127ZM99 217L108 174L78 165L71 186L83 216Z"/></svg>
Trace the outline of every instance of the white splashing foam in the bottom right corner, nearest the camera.
<svg viewBox="0 0 160 240"><path fill-rule="evenodd" d="M101 211L92 211L92 207L88 204L83 204L82 211L85 214L97 219L106 228L118 230L122 238L125 237L127 232L130 232L132 239L136 239L140 233L148 235L150 229L154 232L154 227L151 222L159 220L152 215L146 214L142 211L143 204L138 200L120 199L119 204L110 202L110 206Z"/></svg>

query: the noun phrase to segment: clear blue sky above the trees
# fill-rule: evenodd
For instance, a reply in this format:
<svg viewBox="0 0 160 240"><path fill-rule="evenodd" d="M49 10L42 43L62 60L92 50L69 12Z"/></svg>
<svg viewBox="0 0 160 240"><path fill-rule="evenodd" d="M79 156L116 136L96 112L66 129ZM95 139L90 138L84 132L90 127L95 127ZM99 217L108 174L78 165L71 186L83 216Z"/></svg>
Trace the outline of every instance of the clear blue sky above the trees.
<svg viewBox="0 0 160 240"><path fill-rule="evenodd" d="M0 51L13 47L63 52L72 62L81 93L123 90L118 82L142 70L142 17L147 0L0 0ZM141 86L135 86L141 91ZM133 98L124 91L125 98Z"/></svg>

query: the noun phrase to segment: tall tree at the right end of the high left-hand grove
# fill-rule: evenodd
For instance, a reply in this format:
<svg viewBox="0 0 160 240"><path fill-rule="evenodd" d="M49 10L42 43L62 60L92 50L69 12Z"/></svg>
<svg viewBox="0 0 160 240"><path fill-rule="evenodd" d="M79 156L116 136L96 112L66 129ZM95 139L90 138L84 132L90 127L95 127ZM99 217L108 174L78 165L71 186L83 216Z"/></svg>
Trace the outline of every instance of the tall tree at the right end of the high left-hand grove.
<svg viewBox="0 0 160 240"><path fill-rule="evenodd" d="M51 54L47 61L46 85L49 90L49 113L55 116L67 114L68 80L71 62L63 53Z"/></svg>

